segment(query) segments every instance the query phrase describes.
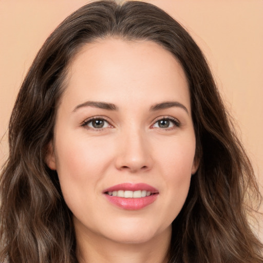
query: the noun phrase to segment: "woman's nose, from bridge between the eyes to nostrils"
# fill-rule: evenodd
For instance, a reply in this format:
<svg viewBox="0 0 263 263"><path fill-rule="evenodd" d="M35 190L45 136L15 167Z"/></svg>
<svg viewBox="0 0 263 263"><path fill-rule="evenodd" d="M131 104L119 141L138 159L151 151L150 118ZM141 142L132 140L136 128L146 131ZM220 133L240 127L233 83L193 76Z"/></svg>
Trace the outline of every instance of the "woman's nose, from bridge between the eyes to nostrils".
<svg viewBox="0 0 263 263"><path fill-rule="evenodd" d="M130 173L146 172L153 166L151 145L140 130L130 129L119 138L116 168Z"/></svg>

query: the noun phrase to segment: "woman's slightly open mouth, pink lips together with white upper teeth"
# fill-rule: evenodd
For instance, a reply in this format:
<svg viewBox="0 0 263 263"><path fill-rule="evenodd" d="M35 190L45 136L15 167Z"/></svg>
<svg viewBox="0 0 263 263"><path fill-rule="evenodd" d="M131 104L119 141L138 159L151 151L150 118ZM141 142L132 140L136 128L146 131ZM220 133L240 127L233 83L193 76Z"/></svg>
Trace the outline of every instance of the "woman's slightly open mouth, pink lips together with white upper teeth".
<svg viewBox="0 0 263 263"><path fill-rule="evenodd" d="M152 204L158 190L145 183L122 183L103 191L107 200L125 210L140 210Z"/></svg>

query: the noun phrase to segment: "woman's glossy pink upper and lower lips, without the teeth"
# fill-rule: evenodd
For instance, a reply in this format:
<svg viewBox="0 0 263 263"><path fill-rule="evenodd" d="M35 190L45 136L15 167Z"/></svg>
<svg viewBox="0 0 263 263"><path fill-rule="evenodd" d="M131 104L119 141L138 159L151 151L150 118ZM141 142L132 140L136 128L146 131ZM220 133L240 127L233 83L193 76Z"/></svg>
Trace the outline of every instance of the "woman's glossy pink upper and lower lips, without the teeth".
<svg viewBox="0 0 263 263"><path fill-rule="evenodd" d="M133 192L139 190L146 190L146 191L150 191L151 195L146 197L140 197L140 198L124 198L118 196L110 196L107 194L107 192L114 192L119 190L133 191ZM152 204L156 200L159 194L157 189L145 183L121 183L105 189L103 193L109 202L125 210L143 209L145 208L145 206Z"/></svg>

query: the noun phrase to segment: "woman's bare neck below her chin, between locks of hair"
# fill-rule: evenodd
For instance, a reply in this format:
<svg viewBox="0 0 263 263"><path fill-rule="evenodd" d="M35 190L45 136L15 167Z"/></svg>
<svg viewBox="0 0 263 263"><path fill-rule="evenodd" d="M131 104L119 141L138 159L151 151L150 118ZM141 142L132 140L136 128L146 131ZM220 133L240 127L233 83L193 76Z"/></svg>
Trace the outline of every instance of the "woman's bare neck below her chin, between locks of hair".
<svg viewBox="0 0 263 263"><path fill-rule="evenodd" d="M79 263L167 263L172 228L143 243L121 243L89 232L78 233ZM80 235L79 235L80 234Z"/></svg>

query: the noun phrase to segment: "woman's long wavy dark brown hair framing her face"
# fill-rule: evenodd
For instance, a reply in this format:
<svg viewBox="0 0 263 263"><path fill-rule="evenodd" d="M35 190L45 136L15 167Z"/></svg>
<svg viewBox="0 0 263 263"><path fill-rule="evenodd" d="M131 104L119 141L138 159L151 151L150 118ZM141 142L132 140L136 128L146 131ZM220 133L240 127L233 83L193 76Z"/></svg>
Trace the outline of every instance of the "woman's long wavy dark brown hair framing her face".
<svg viewBox="0 0 263 263"><path fill-rule="evenodd" d="M200 165L173 222L169 262L262 262L262 244L247 220L252 203L246 201L260 199L253 169L201 50L156 6L112 1L68 16L37 53L21 86L1 176L0 261L77 262L71 212L45 156L70 61L86 43L108 36L158 43L180 62L189 82Z"/></svg>

